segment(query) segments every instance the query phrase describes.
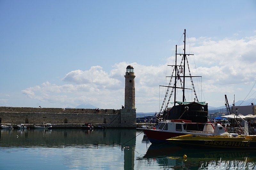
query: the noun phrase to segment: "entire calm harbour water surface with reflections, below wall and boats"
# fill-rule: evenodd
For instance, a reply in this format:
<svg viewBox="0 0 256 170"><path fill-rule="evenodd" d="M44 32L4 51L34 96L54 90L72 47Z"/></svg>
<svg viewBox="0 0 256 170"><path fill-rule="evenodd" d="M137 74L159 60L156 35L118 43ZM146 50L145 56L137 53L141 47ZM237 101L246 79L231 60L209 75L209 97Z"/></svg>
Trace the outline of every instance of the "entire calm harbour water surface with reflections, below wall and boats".
<svg viewBox="0 0 256 170"><path fill-rule="evenodd" d="M136 129L0 130L3 170L251 170L256 169L255 164L255 151L154 145Z"/></svg>

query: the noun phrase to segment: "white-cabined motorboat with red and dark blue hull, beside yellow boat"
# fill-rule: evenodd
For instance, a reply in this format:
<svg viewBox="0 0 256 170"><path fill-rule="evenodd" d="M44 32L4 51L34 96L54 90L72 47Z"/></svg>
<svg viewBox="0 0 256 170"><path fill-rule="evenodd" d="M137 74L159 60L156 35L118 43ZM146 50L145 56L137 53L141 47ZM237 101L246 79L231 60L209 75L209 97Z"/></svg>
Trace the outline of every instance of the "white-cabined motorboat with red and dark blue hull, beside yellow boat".
<svg viewBox="0 0 256 170"><path fill-rule="evenodd" d="M193 123L187 120L166 120L153 129L137 128L144 131L152 144L167 143L166 139L181 135L220 135L226 129L220 123Z"/></svg>

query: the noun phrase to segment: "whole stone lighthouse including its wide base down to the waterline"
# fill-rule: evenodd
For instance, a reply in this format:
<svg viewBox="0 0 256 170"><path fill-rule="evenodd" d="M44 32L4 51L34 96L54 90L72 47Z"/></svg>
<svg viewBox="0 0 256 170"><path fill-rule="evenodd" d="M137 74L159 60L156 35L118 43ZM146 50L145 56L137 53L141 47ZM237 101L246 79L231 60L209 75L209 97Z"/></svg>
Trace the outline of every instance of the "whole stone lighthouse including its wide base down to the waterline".
<svg viewBox="0 0 256 170"><path fill-rule="evenodd" d="M136 128L135 83L133 67L128 65L125 72L124 108L121 109L121 126Z"/></svg>

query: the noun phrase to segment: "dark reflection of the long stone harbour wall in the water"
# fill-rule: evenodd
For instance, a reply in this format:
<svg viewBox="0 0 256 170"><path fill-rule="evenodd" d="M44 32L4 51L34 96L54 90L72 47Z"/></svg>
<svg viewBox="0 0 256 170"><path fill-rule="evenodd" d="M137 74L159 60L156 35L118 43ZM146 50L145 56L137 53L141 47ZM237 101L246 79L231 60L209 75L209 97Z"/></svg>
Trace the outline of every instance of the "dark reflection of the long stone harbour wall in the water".
<svg viewBox="0 0 256 170"><path fill-rule="evenodd" d="M0 131L0 146L8 147L68 147L119 145L136 136L136 130L119 129L13 129ZM16 138L18 136L18 138ZM131 138L129 138L131 137ZM132 142L130 142L132 143ZM6 145L8 144L8 145ZM131 146L133 147L134 144Z"/></svg>

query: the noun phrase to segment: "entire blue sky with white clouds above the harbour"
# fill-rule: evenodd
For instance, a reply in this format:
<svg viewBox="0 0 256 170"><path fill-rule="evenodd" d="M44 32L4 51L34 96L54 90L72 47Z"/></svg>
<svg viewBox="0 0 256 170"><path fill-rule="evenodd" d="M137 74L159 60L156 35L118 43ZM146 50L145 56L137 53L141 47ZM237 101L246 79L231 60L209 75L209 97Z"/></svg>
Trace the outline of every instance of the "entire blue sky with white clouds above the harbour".
<svg viewBox="0 0 256 170"><path fill-rule="evenodd" d="M255 98L255 9L253 0L2 0L0 106L119 109L131 64L137 112L158 112L184 29L200 100Z"/></svg>

